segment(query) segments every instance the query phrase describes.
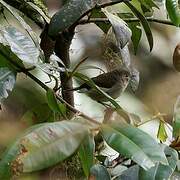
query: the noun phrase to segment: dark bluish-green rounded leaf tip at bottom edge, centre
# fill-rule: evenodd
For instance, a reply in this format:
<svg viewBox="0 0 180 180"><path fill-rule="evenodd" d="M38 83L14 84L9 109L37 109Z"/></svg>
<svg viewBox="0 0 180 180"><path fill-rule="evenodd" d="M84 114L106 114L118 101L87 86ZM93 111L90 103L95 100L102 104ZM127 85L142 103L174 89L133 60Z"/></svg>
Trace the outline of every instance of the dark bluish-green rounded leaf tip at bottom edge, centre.
<svg viewBox="0 0 180 180"><path fill-rule="evenodd" d="M96 164L91 168L89 179L91 178L95 180L110 180L111 179L107 169L100 164Z"/></svg>

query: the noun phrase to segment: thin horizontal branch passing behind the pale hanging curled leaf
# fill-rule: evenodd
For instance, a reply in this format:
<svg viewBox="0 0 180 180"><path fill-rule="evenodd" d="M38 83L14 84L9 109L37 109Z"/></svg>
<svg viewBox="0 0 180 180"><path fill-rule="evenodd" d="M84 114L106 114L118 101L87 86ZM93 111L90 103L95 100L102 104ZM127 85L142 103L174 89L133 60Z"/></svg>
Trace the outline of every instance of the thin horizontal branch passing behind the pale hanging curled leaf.
<svg viewBox="0 0 180 180"><path fill-rule="evenodd" d="M139 22L140 21L138 18L124 18L123 20L126 21L127 23L128 22ZM171 21L168 21L168 20L161 20L161 19L156 19L156 18L152 18L152 17L147 17L146 20L149 22L155 22L155 23L175 26ZM91 18L89 20L82 19L79 21L78 24L83 25L83 24L97 23L97 22L109 23L109 20L107 18Z"/></svg>

